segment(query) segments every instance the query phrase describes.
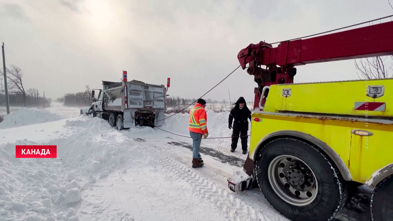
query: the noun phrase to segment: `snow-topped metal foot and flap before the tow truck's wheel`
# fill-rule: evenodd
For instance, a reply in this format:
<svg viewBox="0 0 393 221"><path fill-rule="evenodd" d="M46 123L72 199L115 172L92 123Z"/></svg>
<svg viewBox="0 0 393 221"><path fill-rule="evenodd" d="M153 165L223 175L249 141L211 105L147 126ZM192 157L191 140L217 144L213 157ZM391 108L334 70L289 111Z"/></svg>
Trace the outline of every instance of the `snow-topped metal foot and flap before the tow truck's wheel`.
<svg viewBox="0 0 393 221"><path fill-rule="evenodd" d="M240 192L252 188L253 161L247 157L242 169L233 171L233 177L228 179L228 188L233 192Z"/></svg>

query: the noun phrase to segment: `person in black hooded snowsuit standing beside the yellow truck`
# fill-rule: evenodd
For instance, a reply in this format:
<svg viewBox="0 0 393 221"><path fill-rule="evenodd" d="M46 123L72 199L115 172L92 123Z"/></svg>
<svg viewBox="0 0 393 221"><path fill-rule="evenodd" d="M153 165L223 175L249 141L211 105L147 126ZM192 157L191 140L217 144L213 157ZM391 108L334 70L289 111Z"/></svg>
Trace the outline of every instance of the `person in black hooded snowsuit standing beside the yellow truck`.
<svg viewBox="0 0 393 221"><path fill-rule="evenodd" d="M243 97L240 97L229 114L229 129L232 129L232 120L234 120L231 152L235 151L240 135L243 154L247 153L248 119L251 121L251 111L246 105L246 100Z"/></svg>

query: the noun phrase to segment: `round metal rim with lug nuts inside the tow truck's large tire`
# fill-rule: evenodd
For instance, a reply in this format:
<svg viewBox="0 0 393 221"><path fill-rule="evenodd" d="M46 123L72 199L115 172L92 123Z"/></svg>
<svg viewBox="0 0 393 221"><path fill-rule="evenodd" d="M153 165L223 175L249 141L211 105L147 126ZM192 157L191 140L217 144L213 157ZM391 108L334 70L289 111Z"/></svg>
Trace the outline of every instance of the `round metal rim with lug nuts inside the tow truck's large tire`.
<svg viewBox="0 0 393 221"><path fill-rule="evenodd" d="M312 203L318 193L318 181L312 169L292 155L274 158L268 168L268 179L274 192L294 206Z"/></svg>

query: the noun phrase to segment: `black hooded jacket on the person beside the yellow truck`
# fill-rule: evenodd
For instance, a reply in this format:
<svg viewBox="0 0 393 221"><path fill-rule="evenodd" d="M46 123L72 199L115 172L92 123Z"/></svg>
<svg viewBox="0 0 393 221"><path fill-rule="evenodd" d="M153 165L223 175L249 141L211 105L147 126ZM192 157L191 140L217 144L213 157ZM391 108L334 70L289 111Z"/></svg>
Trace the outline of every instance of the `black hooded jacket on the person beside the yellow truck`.
<svg viewBox="0 0 393 221"><path fill-rule="evenodd" d="M244 103L244 107L242 109L239 108L239 103ZM235 107L232 108L229 114L229 125L232 125L233 121L233 129L234 130L241 130L241 131L248 131L248 119L251 121L251 111L248 109L246 105L246 100L243 97L240 97L236 103Z"/></svg>

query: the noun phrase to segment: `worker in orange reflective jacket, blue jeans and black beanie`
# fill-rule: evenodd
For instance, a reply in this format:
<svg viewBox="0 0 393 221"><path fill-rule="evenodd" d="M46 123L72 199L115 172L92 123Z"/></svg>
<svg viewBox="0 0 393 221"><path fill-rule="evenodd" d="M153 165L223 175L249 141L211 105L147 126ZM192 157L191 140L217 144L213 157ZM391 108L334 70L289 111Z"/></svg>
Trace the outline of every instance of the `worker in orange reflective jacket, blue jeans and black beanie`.
<svg viewBox="0 0 393 221"><path fill-rule="evenodd" d="M190 136L193 138L193 168L203 167L203 160L199 154L200 142L203 138L207 138L208 128L206 126L207 116L206 116L206 101L204 99L198 99L196 101L195 107L190 110L190 119L188 124L188 130L190 131Z"/></svg>

